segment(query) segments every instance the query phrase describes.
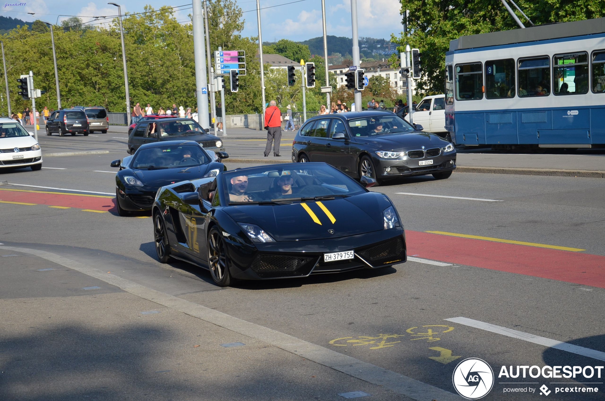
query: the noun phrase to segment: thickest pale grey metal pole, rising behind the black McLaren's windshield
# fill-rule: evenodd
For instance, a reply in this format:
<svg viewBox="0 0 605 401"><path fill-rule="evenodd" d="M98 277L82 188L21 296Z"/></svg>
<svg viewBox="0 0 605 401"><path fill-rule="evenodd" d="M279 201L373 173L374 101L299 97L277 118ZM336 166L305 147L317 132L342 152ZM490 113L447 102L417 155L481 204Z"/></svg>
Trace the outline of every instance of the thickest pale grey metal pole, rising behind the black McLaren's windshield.
<svg viewBox="0 0 605 401"><path fill-rule="evenodd" d="M206 52L204 51L204 18L200 0L193 0L193 52L195 62L195 97L197 120L201 128L210 128L208 119L208 81L206 80Z"/></svg>

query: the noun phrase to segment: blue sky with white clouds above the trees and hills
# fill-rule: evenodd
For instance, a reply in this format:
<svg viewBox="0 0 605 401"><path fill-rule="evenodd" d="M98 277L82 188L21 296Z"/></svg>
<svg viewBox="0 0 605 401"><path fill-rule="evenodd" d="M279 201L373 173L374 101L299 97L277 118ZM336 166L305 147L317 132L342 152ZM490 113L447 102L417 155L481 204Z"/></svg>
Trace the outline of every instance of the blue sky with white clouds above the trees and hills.
<svg viewBox="0 0 605 401"><path fill-rule="evenodd" d="M19 0L22 1L22 0ZM25 0L25 6L2 7L2 14L6 17L19 18L24 21L46 19L49 22L60 22L68 17L59 16L59 13L82 16L84 21L92 21L92 16L110 16L117 14L117 8L105 1L78 1L78 0ZM303 0L293 4L281 5L295 0L260 0L261 25L263 28L263 41L272 42L279 39L304 41L322 35L321 27L321 0ZM7 2L6 0L3 2ZM16 2L10 0L10 2ZM178 21L187 19L191 13L191 2L186 0L118 0L122 5L122 12L136 13L143 11L146 4L154 8L169 4L171 6L186 5L177 11ZM359 36L378 37L389 39L391 33L399 34L402 29L401 3L398 0L358 0ZM244 36L257 36L256 0L237 0L244 12L246 24L242 34ZM4 6L4 4L2 4ZM189 8L189 9L186 9ZM350 0L326 0L325 11L327 15L327 33L335 36L351 37L351 7ZM28 12L36 15L28 15ZM212 34L212 33L211 33Z"/></svg>

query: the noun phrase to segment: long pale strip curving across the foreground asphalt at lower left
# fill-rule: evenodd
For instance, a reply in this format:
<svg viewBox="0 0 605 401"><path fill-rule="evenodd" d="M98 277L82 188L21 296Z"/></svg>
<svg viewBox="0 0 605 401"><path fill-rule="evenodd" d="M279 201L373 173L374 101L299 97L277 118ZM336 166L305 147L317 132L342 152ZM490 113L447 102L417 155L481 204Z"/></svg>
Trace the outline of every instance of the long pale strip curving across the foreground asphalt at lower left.
<svg viewBox="0 0 605 401"><path fill-rule="evenodd" d="M281 348L282 350L299 357L312 360L317 364L324 365L325 367L332 368L333 370L348 374L349 376L356 377L357 379L364 380L373 385L381 386L394 393L403 394L413 400L460 400L459 396L454 395L449 391L441 390L430 384L419 382L411 377L383 369L376 365L368 364L362 360L338 353L329 348L321 347L321 345L312 344L311 342L298 339L289 334L235 318L234 316L227 315L218 310L195 304L194 302L186 301L185 299L177 298L176 296L168 295L157 290L152 290L128 279L111 273L105 273L105 270L94 269L83 263L73 261L64 256L59 256L56 253L8 246L0 247L0 249L30 253L31 255L39 256L40 258L68 267L68 269L77 270L80 273L100 279L108 284L116 285L116 287L119 287L132 295L181 311L186 315L226 328L235 333L258 339L266 344Z"/></svg>

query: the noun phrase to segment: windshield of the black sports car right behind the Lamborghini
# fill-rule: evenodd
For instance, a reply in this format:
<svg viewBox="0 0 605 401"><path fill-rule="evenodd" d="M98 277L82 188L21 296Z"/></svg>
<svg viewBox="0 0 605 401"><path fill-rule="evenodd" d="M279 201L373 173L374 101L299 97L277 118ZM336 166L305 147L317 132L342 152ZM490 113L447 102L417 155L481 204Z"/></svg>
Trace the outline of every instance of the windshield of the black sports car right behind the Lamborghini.
<svg viewBox="0 0 605 401"><path fill-rule="evenodd" d="M210 163L206 152L196 145L154 146L139 149L130 165L133 169L188 168Z"/></svg>

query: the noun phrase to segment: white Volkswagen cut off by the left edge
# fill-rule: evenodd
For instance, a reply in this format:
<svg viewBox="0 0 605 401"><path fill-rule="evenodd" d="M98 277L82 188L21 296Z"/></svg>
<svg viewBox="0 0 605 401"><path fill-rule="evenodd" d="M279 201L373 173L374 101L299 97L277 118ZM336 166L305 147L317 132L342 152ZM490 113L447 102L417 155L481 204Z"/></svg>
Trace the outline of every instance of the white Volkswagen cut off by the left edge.
<svg viewBox="0 0 605 401"><path fill-rule="evenodd" d="M42 168L42 151L33 134L16 120L0 118L0 168Z"/></svg>

